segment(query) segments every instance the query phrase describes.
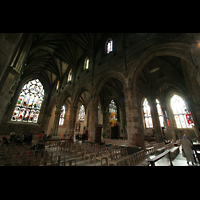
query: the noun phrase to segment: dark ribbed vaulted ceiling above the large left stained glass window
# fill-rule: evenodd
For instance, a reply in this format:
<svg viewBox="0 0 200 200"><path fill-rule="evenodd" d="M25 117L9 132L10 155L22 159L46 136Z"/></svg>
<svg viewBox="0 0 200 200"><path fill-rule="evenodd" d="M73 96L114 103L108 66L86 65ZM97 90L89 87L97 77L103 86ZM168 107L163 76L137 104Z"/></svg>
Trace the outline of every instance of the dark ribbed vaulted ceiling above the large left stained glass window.
<svg viewBox="0 0 200 200"><path fill-rule="evenodd" d="M49 83L61 79L68 66L76 71L82 56L98 49L102 33L35 33L23 76L36 74ZM95 51L93 51L95 53Z"/></svg>

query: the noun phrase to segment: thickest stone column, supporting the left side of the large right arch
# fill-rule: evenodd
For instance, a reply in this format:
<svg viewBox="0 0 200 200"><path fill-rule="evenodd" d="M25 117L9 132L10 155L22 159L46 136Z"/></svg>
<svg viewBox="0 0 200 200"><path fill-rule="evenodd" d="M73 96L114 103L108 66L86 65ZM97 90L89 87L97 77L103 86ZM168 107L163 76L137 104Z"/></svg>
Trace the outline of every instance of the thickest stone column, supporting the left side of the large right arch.
<svg viewBox="0 0 200 200"><path fill-rule="evenodd" d="M144 149L144 133L139 116L136 91L132 87L124 89L126 126L128 140Z"/></svg>

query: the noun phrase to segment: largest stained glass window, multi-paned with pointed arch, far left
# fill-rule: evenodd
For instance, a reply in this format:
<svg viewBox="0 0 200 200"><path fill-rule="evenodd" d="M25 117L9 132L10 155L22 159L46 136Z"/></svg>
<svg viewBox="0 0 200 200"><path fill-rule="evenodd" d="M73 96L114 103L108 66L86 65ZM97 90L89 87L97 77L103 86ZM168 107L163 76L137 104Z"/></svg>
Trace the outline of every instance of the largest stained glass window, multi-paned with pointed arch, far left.
<svg viewBox="0 0 200 200"><path fill-rule="evenodd" d="M43 98L43 85L38 79L24 84L11 121L37 123Z"/></svg>

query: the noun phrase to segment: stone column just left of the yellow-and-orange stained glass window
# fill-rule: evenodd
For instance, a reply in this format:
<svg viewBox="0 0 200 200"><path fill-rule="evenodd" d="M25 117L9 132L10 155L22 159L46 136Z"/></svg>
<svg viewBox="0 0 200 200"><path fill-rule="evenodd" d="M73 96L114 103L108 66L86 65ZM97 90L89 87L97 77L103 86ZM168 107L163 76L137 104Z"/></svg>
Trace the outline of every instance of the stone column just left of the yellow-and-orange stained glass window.
<svg viewBox="0 0 200 200"><path fill-rule="evenodd" d="M88 138L92 142L95 142L95 131L98 123L98 105L95 99L90 100L89 108L90 108L90 116L89 116Z"/></svg>

